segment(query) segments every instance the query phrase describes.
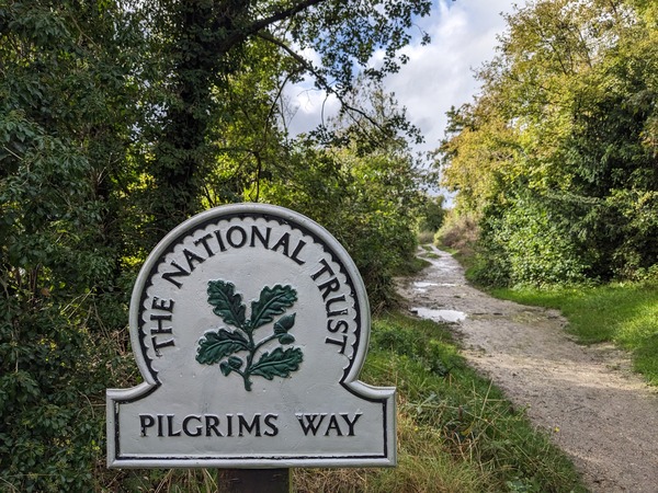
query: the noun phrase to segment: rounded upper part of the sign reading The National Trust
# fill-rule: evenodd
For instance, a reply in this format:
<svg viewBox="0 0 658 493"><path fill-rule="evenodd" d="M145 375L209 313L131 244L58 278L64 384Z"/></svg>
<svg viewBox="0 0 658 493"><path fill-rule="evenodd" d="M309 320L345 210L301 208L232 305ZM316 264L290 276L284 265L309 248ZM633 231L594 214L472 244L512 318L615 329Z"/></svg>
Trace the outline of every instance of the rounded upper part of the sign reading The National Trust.
<svg viewBox="0 0 658 493"><path fill-rule="evenodd" d="M172 230L144 264L131 305L137 362L154 385L180 379L181 366L203 374L179 362L189 349L196 365L241 376L247 391L259 380L292 385L311 357L315 371L327 365L324 375L336 375L338 364L349 382L368 333L366 291L345 250L313 220L262 204L211 209Z"/></svg>

